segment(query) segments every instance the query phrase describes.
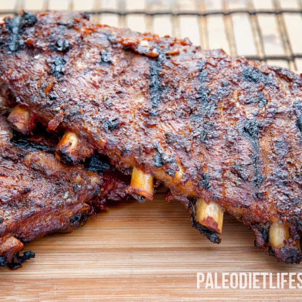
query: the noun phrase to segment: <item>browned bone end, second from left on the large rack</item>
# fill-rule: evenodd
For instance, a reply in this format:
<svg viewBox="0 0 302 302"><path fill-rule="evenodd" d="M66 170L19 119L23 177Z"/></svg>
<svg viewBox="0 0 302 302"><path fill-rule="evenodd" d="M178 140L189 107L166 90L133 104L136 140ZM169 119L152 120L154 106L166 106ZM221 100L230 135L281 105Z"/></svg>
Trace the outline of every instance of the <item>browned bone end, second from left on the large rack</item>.
<svg viewBox="0 0 302 302"><path fill-rule="evenodd" d="M67 130L57 145L56 153L63 161L79 163L91 156L93 149L80 140L76 133Z"/></svg>

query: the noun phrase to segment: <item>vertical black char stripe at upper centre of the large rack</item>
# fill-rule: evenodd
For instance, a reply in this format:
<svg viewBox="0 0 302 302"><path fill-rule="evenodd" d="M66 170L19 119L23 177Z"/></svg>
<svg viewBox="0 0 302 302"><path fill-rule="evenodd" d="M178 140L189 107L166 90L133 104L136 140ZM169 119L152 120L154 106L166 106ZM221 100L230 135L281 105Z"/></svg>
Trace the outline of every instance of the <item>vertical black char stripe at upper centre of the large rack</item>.
<svg viewBox="0 0 302 302"><path fill-rule="evenodd" d="M151 60L150 64L150 99L151 99L151 110L149 111L150 116L154 117L158 114L158 106L161 102L163 86L160 72L162 70L163 56L160 54L156 59Z"/></svg>

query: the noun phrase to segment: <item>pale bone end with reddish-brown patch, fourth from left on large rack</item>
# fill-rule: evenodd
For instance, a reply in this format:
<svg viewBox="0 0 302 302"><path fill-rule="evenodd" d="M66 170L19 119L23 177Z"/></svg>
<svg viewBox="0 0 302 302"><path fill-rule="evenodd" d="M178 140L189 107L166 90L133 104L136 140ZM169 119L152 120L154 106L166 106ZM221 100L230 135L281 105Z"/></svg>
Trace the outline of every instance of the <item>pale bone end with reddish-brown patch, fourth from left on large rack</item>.
<svg viewBox="0 0 302 302"><path fill-rule="evenodd" d="M217 233L222 232L223 226L223 210L219 204L210 202L207 204L204 199L200 198L195 204L196 220L214 230Z"/></svg>

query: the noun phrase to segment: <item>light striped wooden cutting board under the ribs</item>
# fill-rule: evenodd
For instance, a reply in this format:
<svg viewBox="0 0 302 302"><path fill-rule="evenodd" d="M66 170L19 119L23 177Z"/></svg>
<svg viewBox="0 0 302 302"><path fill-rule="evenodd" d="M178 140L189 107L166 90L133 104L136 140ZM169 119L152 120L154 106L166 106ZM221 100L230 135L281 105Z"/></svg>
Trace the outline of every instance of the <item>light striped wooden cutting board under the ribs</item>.
<svg viewBox="0 0 302 302"><path fill-rule="evenodd" d="M299 272L253 246L253 232L226 215L223 240L209 242L187 210L164 194L124 202L70 234L26 245L22 268L1 268L1 300L238 301L297 300L301 290L197 289L197 272Z"/></svg>

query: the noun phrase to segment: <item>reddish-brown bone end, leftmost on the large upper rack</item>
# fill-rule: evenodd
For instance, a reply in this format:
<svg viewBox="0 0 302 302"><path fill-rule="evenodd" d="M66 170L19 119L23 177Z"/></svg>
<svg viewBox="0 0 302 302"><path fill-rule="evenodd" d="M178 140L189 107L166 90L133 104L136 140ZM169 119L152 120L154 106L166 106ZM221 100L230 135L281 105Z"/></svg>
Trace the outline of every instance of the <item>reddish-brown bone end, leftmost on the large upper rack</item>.
<svg viewBox="0 0 302 302"><path fill-rule="evenodd" d="M36 126L35 115L17 105L9 114L8 121L22 134L30 133Z"/></svg>

